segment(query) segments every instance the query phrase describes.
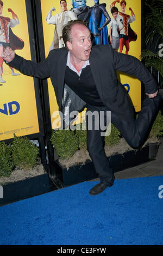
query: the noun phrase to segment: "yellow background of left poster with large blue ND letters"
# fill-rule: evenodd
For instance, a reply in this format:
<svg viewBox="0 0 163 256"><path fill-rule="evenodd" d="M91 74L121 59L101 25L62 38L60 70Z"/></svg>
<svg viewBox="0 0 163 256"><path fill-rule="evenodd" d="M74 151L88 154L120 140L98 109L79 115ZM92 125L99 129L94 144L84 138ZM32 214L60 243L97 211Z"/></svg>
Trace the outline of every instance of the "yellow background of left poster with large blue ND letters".
<svg viewBox="0 0 163 256"><path fill-rule="evenodd" d="M12 19L8 8L14 11L20 22L12 28L12 32L24 41L23 49L15 52L31 59L25 0L3 1L3 16ZM14 71L20 74L17 70ZM6 82L0 82L0 108L3 109L4 103L7 103L8 107L8 102L17 101L20 111L14 115L9 115L9 109L8 115L0 113L0 140L13 138L13 133L16 136L26 136L39 132L33 77L22 74L12 76L9 66L3 63L3 80ZM15 111L16 106L12 107Z"/></svg>

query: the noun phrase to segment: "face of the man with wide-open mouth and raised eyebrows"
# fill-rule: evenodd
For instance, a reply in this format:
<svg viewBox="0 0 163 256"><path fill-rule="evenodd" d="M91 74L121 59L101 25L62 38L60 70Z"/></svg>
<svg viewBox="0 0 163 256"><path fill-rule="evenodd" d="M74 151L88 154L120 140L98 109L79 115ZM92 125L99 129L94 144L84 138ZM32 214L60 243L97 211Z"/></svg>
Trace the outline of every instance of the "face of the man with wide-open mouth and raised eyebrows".
<svg viewBox="0 0 163 256"><path fill-rule="evenodd" d="M72 41L67 42L71 56L78 61L86 61L90 57L92 41L91 33L82 24L75 24L71 29Z"/></svg>

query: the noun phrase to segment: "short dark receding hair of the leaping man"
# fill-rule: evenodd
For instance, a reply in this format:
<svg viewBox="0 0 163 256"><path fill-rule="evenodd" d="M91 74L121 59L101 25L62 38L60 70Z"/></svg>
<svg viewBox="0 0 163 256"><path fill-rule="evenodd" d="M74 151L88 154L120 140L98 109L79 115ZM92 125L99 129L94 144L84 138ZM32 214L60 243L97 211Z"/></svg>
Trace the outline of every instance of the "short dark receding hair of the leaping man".
<svg viewBox="0 0 163 256"><path fill-rule="evenodd" d="M67 41L72 42L71 29L76 24L81 24L81 25L85 26L88 29L88 27L86 26L86 24L82 20L71 20L71 21L69 21L62 30L62 38L64 40L64 44L65 44L66 48L67 48L66 42Z"/></svg>

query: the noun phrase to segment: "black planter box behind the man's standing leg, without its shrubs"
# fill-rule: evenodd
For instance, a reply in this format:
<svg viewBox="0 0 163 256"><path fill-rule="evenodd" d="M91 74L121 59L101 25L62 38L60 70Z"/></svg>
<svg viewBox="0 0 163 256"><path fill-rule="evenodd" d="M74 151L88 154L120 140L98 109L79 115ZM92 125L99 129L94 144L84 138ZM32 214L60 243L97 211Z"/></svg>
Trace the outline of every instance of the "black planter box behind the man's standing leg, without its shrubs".
<svg viewBox="0 0 163 256"><path fill-rule="evenodd" d="M151 143L148 143L145 147L140 150L130 150L124 154L117 154L108 157L110 166L114 172L119 172L123 169L137 166L141 163L145 163L154 159L156 154L150 154L149 149ZM157 143L159 145L159 143ZM156 149L156 152L158 147ZM84 164L78 164L71 166L68 169L61 167L60 163L57 163L57 176L64 186L77 184L79 182L92 180L98 178L98 174L95 172L95 168L91 161L86 161Z"/></svg>

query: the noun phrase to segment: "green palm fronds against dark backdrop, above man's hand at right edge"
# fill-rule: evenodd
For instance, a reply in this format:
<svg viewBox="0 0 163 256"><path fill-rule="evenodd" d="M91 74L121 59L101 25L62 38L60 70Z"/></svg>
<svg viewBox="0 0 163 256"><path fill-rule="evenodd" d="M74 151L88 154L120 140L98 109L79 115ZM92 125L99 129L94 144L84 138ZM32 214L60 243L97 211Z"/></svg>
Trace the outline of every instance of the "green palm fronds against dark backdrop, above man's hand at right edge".
<svg viewBox="0 0 163 256"><path fill-rule="evenodd" d="M141 59L145 61L147 67L154 68L163 77L163 58L160 42L163 42L163 1L162 0L146 0L146 49L142 51ZM151 48L149 50L148 48ZM162 87L162 82L160 87Z"/></svg>

